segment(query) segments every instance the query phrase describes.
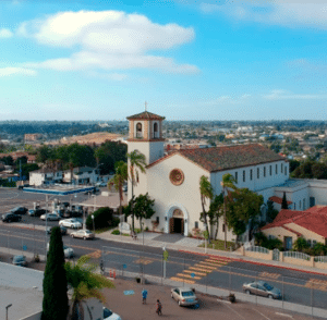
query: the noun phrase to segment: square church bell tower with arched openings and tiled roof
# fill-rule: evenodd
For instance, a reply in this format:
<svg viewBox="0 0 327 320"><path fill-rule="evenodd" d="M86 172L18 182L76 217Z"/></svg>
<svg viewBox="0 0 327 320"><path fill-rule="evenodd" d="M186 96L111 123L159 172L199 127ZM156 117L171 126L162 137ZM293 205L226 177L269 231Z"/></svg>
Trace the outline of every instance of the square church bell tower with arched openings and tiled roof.
<svg viewBox="0 0 327 320"><path fill-rule="evenodd" d="M146 164L164 157L162 121L165 116L144 111L128 116L130 124L129 152L138 150L145 156Z"/></svg>

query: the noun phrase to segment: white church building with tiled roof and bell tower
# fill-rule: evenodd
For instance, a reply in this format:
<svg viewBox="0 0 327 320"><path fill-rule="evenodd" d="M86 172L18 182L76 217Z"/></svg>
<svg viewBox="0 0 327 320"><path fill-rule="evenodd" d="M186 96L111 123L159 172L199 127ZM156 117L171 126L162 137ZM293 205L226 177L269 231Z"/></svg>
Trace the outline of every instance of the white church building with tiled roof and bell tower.
<svg viewBox="0 0 327 320"><path fill-rule="evenodd" d="M204 230L199 221L202 212L199 179L208 177L216 195L221 193L222 175L230 173L237 186L246 187L269 198L282 197L287 190L292 202L289 183L289 162L284 157L259 144L232 145L206 149L186 149L165 155L162 121L165 116L144 111L128 118L129 152L137 150L145 156L146 173L140 172L134 195L146 194L155 199L155 211L144 227L164 233L180 233L187 236L193 229ZM129 182L129 184L131 184ZM284 186L284 188L283 188ZM310 195L307 195L308 197ZM129 185L129 199L131 199ZM308 204L308 199L307 199ZM207 204L208 208L209 204ZM263 208L264 209L264 208ZM263 217L265 219L265 210ZM135 220L137 225L137 220ZM223 221L219 223L218 237L223 237ZM233 241L232 231L228 239Z"/></svg>

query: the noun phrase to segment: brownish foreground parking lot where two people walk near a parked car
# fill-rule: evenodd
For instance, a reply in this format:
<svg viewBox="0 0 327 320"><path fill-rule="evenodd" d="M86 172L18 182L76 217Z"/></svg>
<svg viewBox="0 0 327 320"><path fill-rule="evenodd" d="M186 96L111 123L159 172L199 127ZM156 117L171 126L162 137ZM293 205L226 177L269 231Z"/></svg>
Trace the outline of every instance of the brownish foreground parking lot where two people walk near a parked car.
<svg viewBox="0 0 327 320"><path fill-rule="evenodd" d="M157 284L137 284L133 280L114 280L116 290L105 290L107 306L113 312L120 315L122 319L155 319L156 300L162 304L162 318L165 319L229 319L229 320L286 320L286 319L318 319L302 316L286 310L256 306L237 301L230 304L221 301L217 297L197 294L199 298L198 307L179 307L177 301L170 296L169 286ZM142 304L142 290L148 291L147 304Z"/></svg>

